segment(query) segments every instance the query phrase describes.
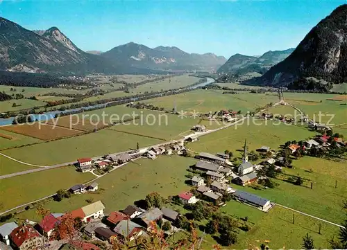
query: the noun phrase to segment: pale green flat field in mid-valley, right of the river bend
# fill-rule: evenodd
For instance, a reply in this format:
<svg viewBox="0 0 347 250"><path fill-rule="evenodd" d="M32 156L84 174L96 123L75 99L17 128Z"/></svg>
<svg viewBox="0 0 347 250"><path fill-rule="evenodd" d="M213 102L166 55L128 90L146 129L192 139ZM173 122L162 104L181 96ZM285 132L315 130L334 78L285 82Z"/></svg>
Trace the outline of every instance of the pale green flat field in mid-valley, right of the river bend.
<svg viewBox="0 0 347 250"><path fill-rule="evenodd" d="M223 94L223 91L203 90L189 91L174 96L163 96L147 100L153 105L164 107L171 110L177 107L177 110L193 111L202 113L209 111L220 111L221 109L241 110L243 112L253 111L256 107L262 107L269 102L278 101L277 96L271 94L256 94L248 92L239 92L237 94Z"/></svg>

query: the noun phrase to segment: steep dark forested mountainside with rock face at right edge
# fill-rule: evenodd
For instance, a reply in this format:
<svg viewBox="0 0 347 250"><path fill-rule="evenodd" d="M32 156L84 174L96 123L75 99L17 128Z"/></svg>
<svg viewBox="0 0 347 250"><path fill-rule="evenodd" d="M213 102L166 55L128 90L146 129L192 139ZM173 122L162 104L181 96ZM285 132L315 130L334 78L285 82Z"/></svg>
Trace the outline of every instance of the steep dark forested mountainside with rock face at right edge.
<svg viewBox="0 0 347 250"><path fill-rule="evenodd" d="M287 86L296 80L289 87L300 84L305 88L306 82L301 81L307 77L335 83L347 81L346 4L314 26L289 57L269 69L256 83Z"/></svg>

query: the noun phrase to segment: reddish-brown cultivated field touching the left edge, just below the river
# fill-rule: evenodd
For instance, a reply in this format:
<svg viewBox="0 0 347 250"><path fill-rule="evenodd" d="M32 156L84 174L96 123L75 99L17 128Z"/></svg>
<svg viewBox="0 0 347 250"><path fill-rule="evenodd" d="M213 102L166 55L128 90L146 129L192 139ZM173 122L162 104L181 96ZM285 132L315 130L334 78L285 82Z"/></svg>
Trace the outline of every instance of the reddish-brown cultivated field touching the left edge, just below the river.
<svg viewBox="0 0 347 250"><path fill-rule="evenodd" d="M46 125L44 123L20 124L0 127L0 131L6 130L17 134L23 134L24 136L31 136L43 141L49 141L53 139L60 139L69 136L76 136L81 134L81 131L69 130L65 127L54 127L52 125Z"/></svg>

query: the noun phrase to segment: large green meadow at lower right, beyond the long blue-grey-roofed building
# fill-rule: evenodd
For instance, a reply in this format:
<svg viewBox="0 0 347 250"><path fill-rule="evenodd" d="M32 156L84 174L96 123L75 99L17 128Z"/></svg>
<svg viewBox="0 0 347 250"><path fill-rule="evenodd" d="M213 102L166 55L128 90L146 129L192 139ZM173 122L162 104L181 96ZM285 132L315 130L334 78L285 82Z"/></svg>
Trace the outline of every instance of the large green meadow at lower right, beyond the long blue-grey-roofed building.
<svg viewBox="0 0 347 250"><path fill-rule="evenodd" d="M255 193L283 206L339 224L345 218L341 210L342 202L347 198L345 168L346 162L338 163L305 157L294 161L293 169L285 168L283 170L283 174L275 180L279 184L276 188L266 190L241 186L235 186L235 188ZM332 172L334 174L330 175ZM288 177L298 175L305 180L303 186L280 180L287 180ZM337 181L337 188L335 188L335 181ZM311 182L313 189L310 188Z"/></svg>

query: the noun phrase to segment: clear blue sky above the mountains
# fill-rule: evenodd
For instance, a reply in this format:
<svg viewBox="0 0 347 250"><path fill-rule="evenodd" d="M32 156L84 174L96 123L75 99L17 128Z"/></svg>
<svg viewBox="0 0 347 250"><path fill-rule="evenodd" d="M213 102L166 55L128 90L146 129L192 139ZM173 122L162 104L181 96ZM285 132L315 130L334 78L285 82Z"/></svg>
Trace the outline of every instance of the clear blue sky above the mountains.
<svg viewBox="0 0 347 250"><path fill-rule="evenodd" d="M295 47L342 3L346 1L0 0L0 16L30 30L57 26L85 51L136 42L230 57Z"/></svg>

